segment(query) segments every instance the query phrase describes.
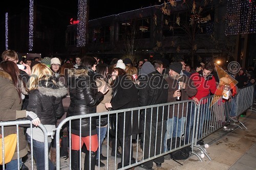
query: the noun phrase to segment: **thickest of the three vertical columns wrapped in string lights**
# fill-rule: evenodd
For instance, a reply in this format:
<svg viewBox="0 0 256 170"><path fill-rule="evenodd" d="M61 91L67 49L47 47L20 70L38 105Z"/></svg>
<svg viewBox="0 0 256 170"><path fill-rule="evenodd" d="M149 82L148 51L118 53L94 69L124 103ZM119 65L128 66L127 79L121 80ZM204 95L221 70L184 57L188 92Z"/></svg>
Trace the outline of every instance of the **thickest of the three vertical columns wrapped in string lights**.
<svg viewBox="0 0 256 170"><path fill-rule="evenodd" d="M86 33L88 26L88 4L87 0L79 0L78 1L78 14L77 18L79 23L77 25L77 46L82 47L86 45Z"/></svg>

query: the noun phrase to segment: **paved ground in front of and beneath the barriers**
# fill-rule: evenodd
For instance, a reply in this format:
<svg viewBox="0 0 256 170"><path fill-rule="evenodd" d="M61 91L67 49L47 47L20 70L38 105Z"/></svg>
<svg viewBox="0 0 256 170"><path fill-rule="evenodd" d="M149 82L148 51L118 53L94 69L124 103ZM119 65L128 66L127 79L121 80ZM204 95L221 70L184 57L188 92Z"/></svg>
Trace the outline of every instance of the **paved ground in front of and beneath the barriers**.
<svg viewBox="0 0 256 170"><path fill-rule="evenodd" d="M220 129L215 133L212 133L208 137L204 138L204 142L209 144L207 153L211 157L211 161L204 157L203 161L199 161L198 158L193 155L186 160L179 161L183 165L173 161L165 160L162 163L162 167L153 166L156 170L169 170L169 169L256 169L256 113L247 111L245 117L240 117L240 121L248 128L240 129L234 125L228 125L230 130ZM102 145L103 153L106 153L106 140ZM134 148L136 152L137 148ZM110 150L111 152L111 150ZM198 151L199 152L199 151ZM199 152L200 153L200 152ZM142 157L140 148L138 149L138 158ZM106 155L106 154L103 154ZM84 159L84 154L82 155ZM134 156L136 157L136 155ZM31 160L30 160L31 161ZM26 165L31 169L30 161L26 162ZM82 160L83 162L83 160ZM107 164L106 161L102 161ZM120 162L114 157L109 156L108 169L115 169L115 165ZM82 163L83 164L83 163ZM69 169L69 161L61 159L61 169ZM35 169L35 168L34 168ZM107 169L105 167L95 169ZM136 170L142 170L143 168L135 167Z"/></svg>

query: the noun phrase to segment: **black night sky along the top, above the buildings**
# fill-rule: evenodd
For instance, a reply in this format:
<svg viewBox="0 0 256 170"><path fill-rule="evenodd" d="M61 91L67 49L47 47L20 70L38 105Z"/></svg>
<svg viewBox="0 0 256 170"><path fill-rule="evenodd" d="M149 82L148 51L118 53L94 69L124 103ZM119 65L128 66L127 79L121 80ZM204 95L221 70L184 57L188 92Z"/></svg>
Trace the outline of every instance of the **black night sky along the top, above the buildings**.
<svg viewBox="0 0 256 170"><path fill-rule="evenodd" d="M54 9L58 9L63 12L70 13L71 17L77 16L77 4L78 0L38 0L34 1L41 6L46 6ZM3 15L6 12L17 14L24 8L29 7L29 0L22 1L4 1L5 5L0 6L1 23L3 22ZM160 4L158 0L129 0L129 1L116 1L116 0L91 0L89 8L89 19L95 19L112 14L118 14L125 11L139 9L141 7L148 7L155 4Z"/></svg>

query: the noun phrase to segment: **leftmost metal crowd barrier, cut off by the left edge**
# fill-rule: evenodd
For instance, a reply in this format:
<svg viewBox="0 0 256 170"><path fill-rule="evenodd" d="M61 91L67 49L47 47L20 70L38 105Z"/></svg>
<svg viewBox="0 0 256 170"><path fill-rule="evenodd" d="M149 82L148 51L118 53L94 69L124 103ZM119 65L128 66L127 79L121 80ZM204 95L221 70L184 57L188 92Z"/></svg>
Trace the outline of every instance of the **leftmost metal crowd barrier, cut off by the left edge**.
<svg viewBox="0 0 256 170"><path fill-rule="evenodd" d="M31 133L30 133L30 136L31 136L31 140L30 140L30 142L31 142L31 167L32 167L32 169L34 169L34 162L33 162L33 147L32 147L32 145L33 145L33 128L32 128L32 123L31 123L31 121L30 120L17 120L17 121L9 121L9 122L0 122L0 126L1 126L1 128L2 128L2 132L1 132L1 134L2 134L2 138L4 139L4 136L5 136L5 127L7 127L7 126L16 126L16 134L17 134L17 160L19 160L19 131L20 130L24 130L23 128L19 128L19 127L23 127L23 126L20 126L20 125L26 125L26 127L28 127L29 126L29 128L31 128ZM48 156L48 153L49 153L49 151L48 151L48 132L47 132L47 130L46 130L46 128L45 128L45 126L44 125L42 125L42 124L40 124L39 126L38 126L41 130L42 130L42 132L44 133L44 140L45 140L45 169L48 169L48 158L49 158L49 156ZM26 132L25 132L26 133ZM4 157L4 155L5 155L5 150L4 150L4 140L2 140L2 155L3 155L3 165L2 165L2 167L3 167L3 169L5 169L5 157ZM18 167L18 169L20 169L20 165L19 165L19 161L17 161L18 163L17 163L17 167Z"/></svg>

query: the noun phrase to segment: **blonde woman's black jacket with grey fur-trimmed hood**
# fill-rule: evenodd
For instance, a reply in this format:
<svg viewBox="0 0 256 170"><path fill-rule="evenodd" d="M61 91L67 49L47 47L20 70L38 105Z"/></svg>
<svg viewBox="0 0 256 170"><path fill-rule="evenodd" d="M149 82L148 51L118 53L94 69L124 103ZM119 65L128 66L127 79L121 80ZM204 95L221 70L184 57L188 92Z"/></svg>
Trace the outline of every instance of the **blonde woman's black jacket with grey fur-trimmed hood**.
<svg viewBox="0 0 256 170"><path fill-rule="evenodd" d="M27 111L36 113L41 124L55 125L57 118L64 114L61 98L67 93L67 88L58 88L51 80L41 80L38 89L29 93Z"/></svg>

